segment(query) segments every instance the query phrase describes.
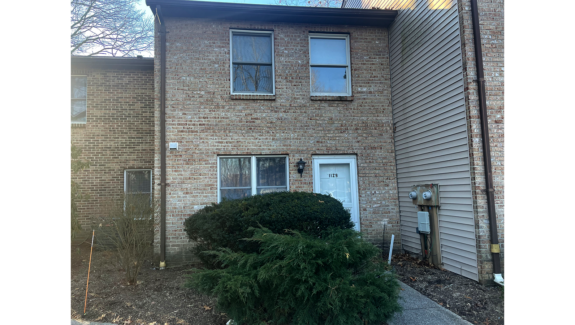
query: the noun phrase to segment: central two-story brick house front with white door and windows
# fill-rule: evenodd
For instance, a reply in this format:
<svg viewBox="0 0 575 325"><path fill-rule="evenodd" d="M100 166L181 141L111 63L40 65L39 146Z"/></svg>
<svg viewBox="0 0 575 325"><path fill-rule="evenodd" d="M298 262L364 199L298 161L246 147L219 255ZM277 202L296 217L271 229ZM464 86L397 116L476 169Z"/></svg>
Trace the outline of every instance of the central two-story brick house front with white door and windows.
<svg viewBox="0 0 575 325"><path fill-rule="evenodd" d="M148 5L154 12L157 5L167 31L164 143L178 145L166 154L166 260L192 258L182 225L197 209L273 190L331 191L368 240L381 245L384 220L389 233L399 234L386 28L394 12ZM156 175L162 166L161 33L158 28ZM250 73L240 71L244 61L261 62L254 69L269 69L273 78L262 72L260 89L243 82ZM332 70L337 78L330 79ZM301 176L300 160L307 162ZM240 174L245 182L237 181ZM330 175L331 187L319 188ZM159 197L161 188L154 193Z"/></svg>

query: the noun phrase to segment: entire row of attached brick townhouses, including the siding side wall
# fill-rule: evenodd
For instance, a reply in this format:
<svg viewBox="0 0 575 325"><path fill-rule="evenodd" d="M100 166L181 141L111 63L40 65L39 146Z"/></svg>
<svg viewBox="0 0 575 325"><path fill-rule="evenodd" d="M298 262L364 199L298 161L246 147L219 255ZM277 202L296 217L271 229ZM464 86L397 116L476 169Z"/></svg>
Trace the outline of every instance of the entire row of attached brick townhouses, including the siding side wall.
<svg viewBox="0 0 575 325"><path fill-rule="evenodd" d="M190 261L183 222L198 209L278 190L331 193L368 240L381 245L386 223L395 247L417 254L407 194L437 183L443 266L490 281L469 1L346 0L336 9L148 0L153 64L72 67L71 58L71 75L88 86L85 123L81 108L72 123L83 97L71 88L70 136L93 166L80 177L94 194L83 222L126 190L126 170L144 169L164 203L161 262ZM372 7L382 10L347 9ZM504 7L479 8L504 269Z"/></svg>

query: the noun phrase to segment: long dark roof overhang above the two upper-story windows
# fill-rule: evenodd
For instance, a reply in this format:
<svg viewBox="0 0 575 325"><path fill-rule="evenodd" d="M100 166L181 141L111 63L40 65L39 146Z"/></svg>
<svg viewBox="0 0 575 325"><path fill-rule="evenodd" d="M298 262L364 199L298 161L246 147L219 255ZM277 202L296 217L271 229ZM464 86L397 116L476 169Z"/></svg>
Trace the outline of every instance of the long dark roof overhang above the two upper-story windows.
<svg viewBox="0 0 575 325"><path fill-rule="evenodd" d="M388 27L397 10L271 6L184 0L146 0L168 17Z"/></svg>

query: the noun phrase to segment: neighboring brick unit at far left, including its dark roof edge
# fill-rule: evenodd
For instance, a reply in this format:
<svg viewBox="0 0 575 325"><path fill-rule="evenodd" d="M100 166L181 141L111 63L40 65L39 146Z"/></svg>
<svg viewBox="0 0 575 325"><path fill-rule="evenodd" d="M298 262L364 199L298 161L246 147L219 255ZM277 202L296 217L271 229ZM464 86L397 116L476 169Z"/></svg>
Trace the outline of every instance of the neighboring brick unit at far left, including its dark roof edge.
<svg viewBox="0 0 575 325"><path fill-rule="evenodd" d="M151 58L70 57L70 141L90 162L70 172L89 195L78 203L84 230L124 191L151 192L153 68Z"/></svg>

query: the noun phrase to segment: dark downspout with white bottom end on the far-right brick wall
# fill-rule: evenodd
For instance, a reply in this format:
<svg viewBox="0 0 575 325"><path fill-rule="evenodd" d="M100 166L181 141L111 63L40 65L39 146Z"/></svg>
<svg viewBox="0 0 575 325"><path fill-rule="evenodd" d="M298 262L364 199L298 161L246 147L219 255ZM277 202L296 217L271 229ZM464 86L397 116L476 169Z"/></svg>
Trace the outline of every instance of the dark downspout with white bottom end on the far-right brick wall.
<svg viewBox="0 0 575 325"><path fill-rule="evenodd" d="M495 283L505 286L501 276L501 260L499 259L499 236L497 234L497 218L495 214L495 190L493 188L493 173L491 171L491 147L489 145L489 122L487 119L487 99L485 94L485 74L483 73L483 53L481 50L481 33L479 30L479 10L477 0L471 0L471 17L473 20L473 40L475 43L475 59L477 63L477 79L479 81L479 119L481 121L481 140L483 142L483 161L485 182L487 185L487 213L491 234L491 254L493 259L493 277Z"/></svg>

